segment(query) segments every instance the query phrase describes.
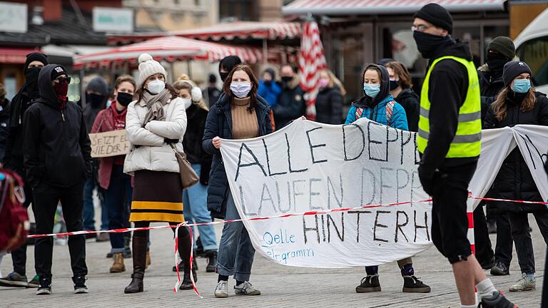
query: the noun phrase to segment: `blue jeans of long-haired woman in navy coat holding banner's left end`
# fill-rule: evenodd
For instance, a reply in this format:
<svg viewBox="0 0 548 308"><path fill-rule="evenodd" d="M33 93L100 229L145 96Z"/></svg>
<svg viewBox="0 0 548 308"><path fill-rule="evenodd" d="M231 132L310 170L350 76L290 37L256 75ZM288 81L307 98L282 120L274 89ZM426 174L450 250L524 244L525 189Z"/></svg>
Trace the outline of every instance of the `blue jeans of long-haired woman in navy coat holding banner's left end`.
<svg viewBox="0 0 548 308"><path fill-rule="evenodd" d="M230 191L227 198L225 220L240 219ZM217 273L223 276L234 275L234 279L239 281L249 281L253 257L255 248L243 222L225 223L219 243Z"/></svg>

